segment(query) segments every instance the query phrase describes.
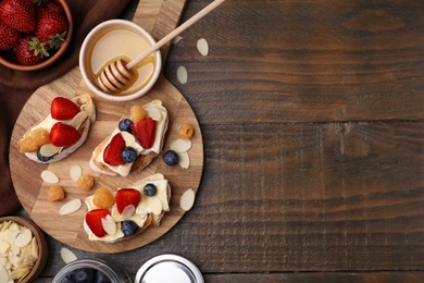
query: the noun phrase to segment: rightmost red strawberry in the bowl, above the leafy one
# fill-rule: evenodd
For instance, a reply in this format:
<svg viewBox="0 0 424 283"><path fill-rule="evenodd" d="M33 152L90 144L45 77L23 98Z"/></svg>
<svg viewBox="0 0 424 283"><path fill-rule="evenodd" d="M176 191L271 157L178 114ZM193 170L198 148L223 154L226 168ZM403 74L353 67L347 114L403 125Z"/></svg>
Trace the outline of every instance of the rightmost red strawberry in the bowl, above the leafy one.
<svg viewBox="0 0 424 283"><path fill-rule="evenodd" d="M65 15L49 11L43 11L38 15L36 36L41 42L48 42L57 35L66 36L68 27ZM64 38L62 38L64 40Z"/></svg>

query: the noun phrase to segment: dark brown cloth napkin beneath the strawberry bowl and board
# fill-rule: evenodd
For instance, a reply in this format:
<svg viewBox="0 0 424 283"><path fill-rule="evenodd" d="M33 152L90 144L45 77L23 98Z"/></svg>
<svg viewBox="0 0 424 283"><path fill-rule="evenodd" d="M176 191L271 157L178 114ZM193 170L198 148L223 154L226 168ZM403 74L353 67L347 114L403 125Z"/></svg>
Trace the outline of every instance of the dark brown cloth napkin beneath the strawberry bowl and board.
<svg viewBox="0 0 424 283"><path fill-rule="evenodd" d="M49 69L17 72L0 65L0 216L15 212L21 204L15 195L9 169L9 144L13 125L29 96L40 86L78 64L79 49L97 24L119 17L129 0L68 0L74 19L74 35L65 56Z"/></svg>

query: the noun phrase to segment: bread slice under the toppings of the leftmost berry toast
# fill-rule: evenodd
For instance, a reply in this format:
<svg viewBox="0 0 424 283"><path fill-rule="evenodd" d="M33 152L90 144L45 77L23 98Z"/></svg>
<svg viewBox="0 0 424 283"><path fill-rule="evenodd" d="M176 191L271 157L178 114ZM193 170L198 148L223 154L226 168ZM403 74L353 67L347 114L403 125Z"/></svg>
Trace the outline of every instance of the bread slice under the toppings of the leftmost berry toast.
<svg viewBox="0 0 424 283"><path fill-rule="evenodd" d="M84 142L87 139L87 136L88 136L88 132L89 132L89 128L90 128L90 125L91 123L96 122L96 107L95 107L95 103L92 102L92 99L91 99L91 96L86 94L86 95L79 95L79 96L75 96L73 98L71 98L70 100L72 100L73 102L75 102L77 106L79 106L80 109L84 109L86 112L87 112L87 116L84 119L84 121L80 122L79 126L77 127L78 132L80 133L80 138L78 139L77 143L75 143L74 145L72 146L68 146L68 147L63 147L60 149L60 151L52 156L49 160L47 161L41 161L37 158L37 152L24 152L25 156L35 161L35 162L39 162L39 163L52 163L52 162L57 162L57 161L60 161L66 157L68 157L71 153L73 153L75 150L77 150L83 144ZM22 137L22 139L26 138L27 136L29 136L33 132L34 128L37 128L41 123L43 123L47 119L51 119L50 116L47 116L43 121L41 121L39 124L33 126L32 128L29 128L25 134L24 136ZM21 139L21 140L22 140ZM20 149L20 148L18 148Z"/></svg>

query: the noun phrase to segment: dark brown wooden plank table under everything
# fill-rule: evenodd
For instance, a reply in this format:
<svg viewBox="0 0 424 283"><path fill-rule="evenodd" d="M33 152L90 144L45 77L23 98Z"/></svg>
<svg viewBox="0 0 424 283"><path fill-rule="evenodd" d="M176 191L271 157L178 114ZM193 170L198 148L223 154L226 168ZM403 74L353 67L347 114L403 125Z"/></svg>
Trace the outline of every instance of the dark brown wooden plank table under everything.
<svg viewBox="0 0 424 283"><path fill-rule="evenodd" d="M207 282L423 282L423 15L421 0L226 1L164 70L202 128L195 208L139 249L71 249L133 275L173 253ZM64 266L49 243L39 282Z"/></svg>

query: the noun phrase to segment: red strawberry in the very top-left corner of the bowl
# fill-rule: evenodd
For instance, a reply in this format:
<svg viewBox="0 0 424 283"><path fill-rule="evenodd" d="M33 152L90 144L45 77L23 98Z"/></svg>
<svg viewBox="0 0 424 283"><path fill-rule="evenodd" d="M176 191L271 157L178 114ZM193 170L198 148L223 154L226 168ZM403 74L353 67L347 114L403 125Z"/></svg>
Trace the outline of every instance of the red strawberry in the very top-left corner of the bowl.
<svg viewBox="0 0 424 283"><path fill-rule="evenodd" d="M36 29L37 12L32 0L3 0L0 2L2 22L22 33Z"/></svg>

